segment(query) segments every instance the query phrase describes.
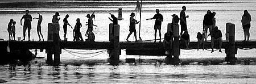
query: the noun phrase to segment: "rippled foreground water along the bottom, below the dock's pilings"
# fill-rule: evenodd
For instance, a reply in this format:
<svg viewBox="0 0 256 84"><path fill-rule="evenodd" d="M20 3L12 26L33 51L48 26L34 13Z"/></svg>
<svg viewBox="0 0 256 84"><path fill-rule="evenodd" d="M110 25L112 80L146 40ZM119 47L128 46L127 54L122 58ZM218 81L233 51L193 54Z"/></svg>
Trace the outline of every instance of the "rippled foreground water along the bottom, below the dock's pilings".
<svg viewBox="0 0 256 84"><path fill-rule="evenodd" d="M254 83L255 65L0 66L7 83ZM219 81L219 80L222 81Z"/></svg>

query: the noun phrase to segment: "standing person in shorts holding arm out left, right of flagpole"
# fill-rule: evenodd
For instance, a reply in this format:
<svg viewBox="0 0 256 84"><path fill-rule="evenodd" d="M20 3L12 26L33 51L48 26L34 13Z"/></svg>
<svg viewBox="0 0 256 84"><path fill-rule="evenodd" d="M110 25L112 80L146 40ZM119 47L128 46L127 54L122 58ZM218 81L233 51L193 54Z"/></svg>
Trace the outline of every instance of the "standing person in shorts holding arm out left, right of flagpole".
<svg viewBox="0 0 256 84"><path fill-rule="evenodd" d="M163 15L160 14L159 12L159 9L156 9L155 10L156 14L154 15L153 18L148 18L146 20L150 20L150 19L155 19L155 26L154 26L154 30L155 30L155 41L154 43L156 42L156 32L158 31L159 32L159 37L160 37L160 41L159 43L161 42L161 24L163 22Z"/></svg>

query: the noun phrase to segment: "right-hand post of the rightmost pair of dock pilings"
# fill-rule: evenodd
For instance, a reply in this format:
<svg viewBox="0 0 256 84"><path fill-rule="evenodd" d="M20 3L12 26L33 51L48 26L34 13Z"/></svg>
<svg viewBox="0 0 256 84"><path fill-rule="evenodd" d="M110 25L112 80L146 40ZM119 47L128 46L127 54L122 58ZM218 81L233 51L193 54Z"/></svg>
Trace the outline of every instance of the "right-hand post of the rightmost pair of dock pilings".
<svg viewBox="0 0 256 84"><path fill-rule="evenodd" d="M235 24L230 24L229 27L229 62L235 64Z"/></svg>

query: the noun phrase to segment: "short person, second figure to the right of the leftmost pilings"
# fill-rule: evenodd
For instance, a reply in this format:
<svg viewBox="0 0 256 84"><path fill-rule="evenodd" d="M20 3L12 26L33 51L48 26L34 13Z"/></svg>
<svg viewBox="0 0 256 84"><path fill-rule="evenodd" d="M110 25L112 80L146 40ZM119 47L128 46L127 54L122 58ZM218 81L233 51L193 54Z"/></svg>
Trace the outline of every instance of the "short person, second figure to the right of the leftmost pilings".
<svg viewBox="0 0 256 84"><path fill-rule="evenodd" d="M81 32L80 32L80 28L82 27L82 23L80 22L80 19L79 18L77 18L76 19L76 26L75 26L75 28L76 28L76 41L84 41L84 39L82 39L82 34L81 34Z"/></svg>

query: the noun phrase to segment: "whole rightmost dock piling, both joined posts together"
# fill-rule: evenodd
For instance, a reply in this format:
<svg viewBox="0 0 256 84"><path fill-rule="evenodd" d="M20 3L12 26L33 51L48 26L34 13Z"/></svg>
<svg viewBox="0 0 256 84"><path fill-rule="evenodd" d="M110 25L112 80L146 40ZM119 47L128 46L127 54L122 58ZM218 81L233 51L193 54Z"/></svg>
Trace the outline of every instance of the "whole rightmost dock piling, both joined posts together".
<svg viewBox="0 0 256 84"><path fill-rule="evenodd" d="M226 30L228 30L227 33L229 33L229 47L225 49L226 57L225 61L229 62L229 64L235 64L236 58L235 58L235 51L236 51L236 45L235 45L235 24L233 23L226 23Z"/></svg>

